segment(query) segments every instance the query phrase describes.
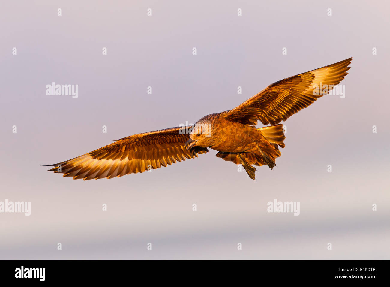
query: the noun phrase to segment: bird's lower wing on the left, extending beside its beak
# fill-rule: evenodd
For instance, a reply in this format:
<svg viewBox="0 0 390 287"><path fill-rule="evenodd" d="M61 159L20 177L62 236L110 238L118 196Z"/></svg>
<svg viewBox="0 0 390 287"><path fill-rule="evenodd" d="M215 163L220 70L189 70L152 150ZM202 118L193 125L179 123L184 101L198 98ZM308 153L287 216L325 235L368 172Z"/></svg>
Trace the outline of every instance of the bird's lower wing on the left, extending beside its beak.
<svg viewBox="0 0 390 287"><path fill-rule="evenodd" d="M85 155L50 164L55 167L48 171L63 173L73 179L113 178L161 168L208 152L207 148L200 147L186 150L184 144L190 138L186 128L191 127L167 128L124 137Z"/></svg>

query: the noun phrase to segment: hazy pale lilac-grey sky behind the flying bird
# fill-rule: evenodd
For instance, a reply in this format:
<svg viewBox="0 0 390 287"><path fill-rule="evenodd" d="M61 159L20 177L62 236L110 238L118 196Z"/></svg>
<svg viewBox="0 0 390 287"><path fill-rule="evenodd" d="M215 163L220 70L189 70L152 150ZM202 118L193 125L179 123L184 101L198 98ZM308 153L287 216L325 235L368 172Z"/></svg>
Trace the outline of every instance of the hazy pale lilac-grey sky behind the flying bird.
<svg viewBox="0 0 390 287"><path fill-rule="evenodd" d="M0 201L31 201L32 213L0 214L0 259L389 259L389 8L2 1ZM346 98L325 96L289 118L277 167L258 168L256 181L213 150L110 180L72 180L40 166L194 123L348 57ZM78 98L46 96L51 82L78 84ZM274 199L300 201L300 216L268 213Z"/></svg>

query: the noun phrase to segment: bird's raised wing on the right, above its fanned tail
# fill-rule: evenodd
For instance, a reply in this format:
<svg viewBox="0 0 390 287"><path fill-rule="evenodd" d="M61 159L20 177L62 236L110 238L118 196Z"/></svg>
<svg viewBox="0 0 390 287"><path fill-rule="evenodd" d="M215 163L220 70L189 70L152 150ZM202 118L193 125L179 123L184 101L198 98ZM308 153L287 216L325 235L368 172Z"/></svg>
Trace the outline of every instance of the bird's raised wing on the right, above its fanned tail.
<svg viewBox="0 0 390 287"><path fill-rule="evenodd" d="M338 85L348 74L348 65L351 61L352 58L349 58L275 82L224 114L230 121L246 125L253 125L257 120L264 125L276 125L311 105L317 98L328 94L328 91ZM324 85L327 85L328 89L325 89ZM324 88L322 93L317 89L321 86Z"/></svg>

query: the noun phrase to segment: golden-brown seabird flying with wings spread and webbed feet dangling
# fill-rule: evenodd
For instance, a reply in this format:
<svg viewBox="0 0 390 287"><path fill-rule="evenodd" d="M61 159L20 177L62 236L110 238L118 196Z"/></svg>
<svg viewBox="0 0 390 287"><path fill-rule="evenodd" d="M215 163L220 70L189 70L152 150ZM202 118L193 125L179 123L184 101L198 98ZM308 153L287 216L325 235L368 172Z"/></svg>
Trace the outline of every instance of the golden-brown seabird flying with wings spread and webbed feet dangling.
<svg viewBox="0 0 390 287"><path fill-rule="evenodd" d="M131 135L74 159L50 164L48 171L73 179L113 178L144 172L217 150L217 157L242 164L255 179L252 165L273 169L284 148L281 121L328 94L347 75L352 58L285 78L230 111L210 114L194 126ZM323 88L319 90L319 88ZM257 121L271 126L256 128Z"/></svg>

